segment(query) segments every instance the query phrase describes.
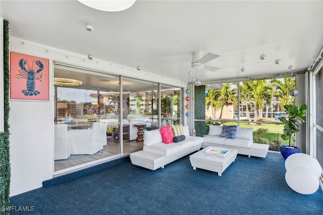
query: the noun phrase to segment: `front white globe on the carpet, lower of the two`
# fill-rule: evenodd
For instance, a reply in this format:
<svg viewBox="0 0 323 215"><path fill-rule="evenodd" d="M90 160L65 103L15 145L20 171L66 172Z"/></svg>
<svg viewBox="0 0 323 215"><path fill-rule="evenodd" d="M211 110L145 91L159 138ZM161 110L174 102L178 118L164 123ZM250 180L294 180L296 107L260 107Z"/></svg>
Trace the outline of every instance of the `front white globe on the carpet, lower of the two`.
<svg viewBox="0 0 323 215"><path fill-rule="evenodd" d="M312 194L319 186L316 175L310 169L300 166L289 168L285 180L290 188L300 194Z"/></svg>

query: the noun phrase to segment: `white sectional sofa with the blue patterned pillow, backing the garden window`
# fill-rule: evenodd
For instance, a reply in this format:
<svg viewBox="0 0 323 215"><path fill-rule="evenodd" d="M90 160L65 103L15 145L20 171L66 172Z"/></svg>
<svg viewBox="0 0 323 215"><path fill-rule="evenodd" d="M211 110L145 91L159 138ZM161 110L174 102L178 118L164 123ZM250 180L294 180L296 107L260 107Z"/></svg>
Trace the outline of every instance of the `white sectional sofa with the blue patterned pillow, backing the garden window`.
<svg viewBox="0 0 323 215"><path fill-rule="evenodd" d="M253 143L252 128L238 127L234 139L221 137L223 126L210 125L209 134L203 137L202 148L219 146L238 149L238 154L266 157L269 145Z"/></svg>

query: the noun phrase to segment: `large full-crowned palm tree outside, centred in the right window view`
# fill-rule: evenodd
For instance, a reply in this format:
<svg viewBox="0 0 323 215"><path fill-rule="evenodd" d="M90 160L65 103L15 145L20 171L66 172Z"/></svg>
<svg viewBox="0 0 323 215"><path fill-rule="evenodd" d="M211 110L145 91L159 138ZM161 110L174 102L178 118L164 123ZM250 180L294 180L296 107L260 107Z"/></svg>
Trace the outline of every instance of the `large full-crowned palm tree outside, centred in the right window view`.
<svg viewBox="0 0 323 215"><path fill-rule="evenodd" d="M260 116L260 110L263 107L263 98L265 97L267 90L270 89L268 85L266 85L265 80L255 80L249 81L247 84L250 87L251 100L255 103L255 111L254 111L254 122L257 122L258 116Z"/></svg>

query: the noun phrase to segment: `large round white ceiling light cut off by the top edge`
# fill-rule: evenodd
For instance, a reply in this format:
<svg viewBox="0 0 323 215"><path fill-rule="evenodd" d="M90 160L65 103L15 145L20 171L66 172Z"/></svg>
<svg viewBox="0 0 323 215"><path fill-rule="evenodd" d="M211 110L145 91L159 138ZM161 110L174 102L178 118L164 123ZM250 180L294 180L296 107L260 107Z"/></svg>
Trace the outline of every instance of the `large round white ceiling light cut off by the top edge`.
<svg viewBox="0 0 323 215"><path fill-rule="evenodd" d="M100 11L123 11L130 8L133 4L135 4L136 0L123 0L123 1L89 1L89 0L78 0L80 3L94 8Z"/></svg>

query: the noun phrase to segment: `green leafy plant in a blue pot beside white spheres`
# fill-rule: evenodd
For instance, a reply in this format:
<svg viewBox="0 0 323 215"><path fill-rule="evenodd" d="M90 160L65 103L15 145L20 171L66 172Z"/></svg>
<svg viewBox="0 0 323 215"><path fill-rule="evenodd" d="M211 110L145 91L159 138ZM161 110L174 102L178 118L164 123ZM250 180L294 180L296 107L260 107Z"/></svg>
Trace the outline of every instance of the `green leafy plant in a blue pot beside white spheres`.
<svg viewBox="0 0 323 215"><path fill-rule="evenodd" d="M299 153L300 148L296 146L291 146L291 141L295 142L295 135L299 131L299 125L305 122L301 117L305 117L305 112L307 110L306 104L299 103L298 106L294 104L284 105L286 110L286 117L281 117L279 120L283 122L284 134L281 135L283 140L289 140L289 145L281 145L281 154L286 159L289 155L294 153Z"/></svg>

